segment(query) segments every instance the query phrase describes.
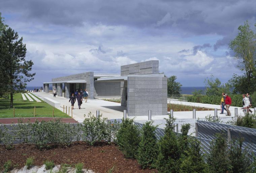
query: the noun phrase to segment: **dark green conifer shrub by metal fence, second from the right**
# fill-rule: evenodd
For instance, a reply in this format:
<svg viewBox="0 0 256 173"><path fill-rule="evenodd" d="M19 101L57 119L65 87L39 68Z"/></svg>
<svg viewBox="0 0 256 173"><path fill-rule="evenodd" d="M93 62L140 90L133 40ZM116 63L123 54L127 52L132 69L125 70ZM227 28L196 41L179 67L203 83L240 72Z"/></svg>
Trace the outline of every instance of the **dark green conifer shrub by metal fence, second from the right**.
<svg viewBox="0 0 256 173"><path fill-rule="evenodd" d="M207 163L211 172L223 173L232 170L231 161L228 158L227 141L223 134L216 134L216 139L210 147Z"/></svg>

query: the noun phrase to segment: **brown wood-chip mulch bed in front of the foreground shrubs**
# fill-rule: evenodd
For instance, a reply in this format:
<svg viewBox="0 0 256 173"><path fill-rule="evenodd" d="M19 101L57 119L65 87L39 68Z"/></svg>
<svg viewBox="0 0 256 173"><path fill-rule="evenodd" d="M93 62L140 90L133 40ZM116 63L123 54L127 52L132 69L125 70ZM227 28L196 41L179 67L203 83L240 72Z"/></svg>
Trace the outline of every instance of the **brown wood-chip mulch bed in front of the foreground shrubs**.
<svg viewBox="0 0 256 173"><path fill-rule="evenodd" d="M74 142L69 147L54 147L51 149L37 149L33 144L15 145L14 149L6 150L0 146L0 167L11 160L16 168L22 168L28 157L34 157L34 165L43 165L43 161L52 160L55 165L70 164L74 167L83 163L84 168L95 172L105 173L114 166L116 173L157 172L155 169L142 170L136 160L125 159L123 153L114 144L100 144L90 146L85 142Z"/></svg>

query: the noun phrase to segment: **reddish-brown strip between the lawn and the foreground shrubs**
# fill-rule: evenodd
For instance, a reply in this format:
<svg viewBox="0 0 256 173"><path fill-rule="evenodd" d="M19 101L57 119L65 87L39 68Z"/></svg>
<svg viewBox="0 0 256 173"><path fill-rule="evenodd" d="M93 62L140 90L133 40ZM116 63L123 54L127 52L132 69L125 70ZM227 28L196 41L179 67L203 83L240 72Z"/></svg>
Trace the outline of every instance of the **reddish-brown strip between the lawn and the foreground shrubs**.
<svg viewBox="0 0 256 173"><path fill-rule="evenodd" d="M60 118L51 118L51 117L29 117L29 118L0 118L0 124L12 124L12 123L18 123L18 120L22 120L22 122L27 123L34 123L35 120L38 120L41 122L42 120L44 121L50 121L50 120L55 120L55 119L60 119ZM73 118L61 118L62 122L67 122L67 123L77 123L76 120Z"/></svg>

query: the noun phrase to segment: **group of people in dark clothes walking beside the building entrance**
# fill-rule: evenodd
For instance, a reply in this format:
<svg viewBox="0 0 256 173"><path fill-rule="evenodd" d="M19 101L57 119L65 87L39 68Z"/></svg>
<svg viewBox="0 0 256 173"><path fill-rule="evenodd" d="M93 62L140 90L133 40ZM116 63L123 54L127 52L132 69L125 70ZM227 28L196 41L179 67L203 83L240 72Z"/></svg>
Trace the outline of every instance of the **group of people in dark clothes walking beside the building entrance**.
<svg viewBox="0 0 256 173"><path fill-rule="evenodd" d="M72 93L72 95L69 97L69 102L71 101L71 109L74 109L74 104L75 104L76 100L77 100L78 108L81 109L83 99L85 99L85 102L87 102L88 96L89 96L89 93L87 92L86 89L84 92L81 89L81 91L79 91L79 92L78 92L78 90L76 90L75 93Z"/></svg>

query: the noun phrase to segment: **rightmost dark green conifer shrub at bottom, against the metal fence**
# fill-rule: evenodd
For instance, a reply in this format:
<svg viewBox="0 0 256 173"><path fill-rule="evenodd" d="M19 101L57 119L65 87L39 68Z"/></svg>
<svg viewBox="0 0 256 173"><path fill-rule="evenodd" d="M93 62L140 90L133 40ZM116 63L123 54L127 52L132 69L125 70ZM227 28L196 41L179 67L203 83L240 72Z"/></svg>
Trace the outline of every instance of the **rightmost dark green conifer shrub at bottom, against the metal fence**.
<svg viewBox="0 0 256 173"><path fill-rule="evenodd" d="M233 173L250 172L252 155L247 150L242 151L243 138L233 140L230 144L229 159L231 160Z"/></svg>

